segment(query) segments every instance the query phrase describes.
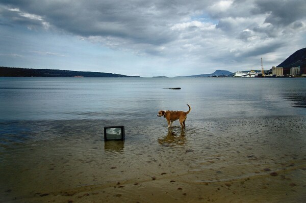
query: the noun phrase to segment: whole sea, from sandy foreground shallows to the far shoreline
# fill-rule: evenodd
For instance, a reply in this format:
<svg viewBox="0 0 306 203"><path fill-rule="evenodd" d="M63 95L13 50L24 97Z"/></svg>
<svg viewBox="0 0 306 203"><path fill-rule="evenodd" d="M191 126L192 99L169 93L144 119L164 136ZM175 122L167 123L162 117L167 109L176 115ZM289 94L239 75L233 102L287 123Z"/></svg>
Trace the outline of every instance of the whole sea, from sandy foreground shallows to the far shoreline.
<svg viewBox="0 0 306 203"><path fill-rule="evenodd" d="M305 78L0 77L0 201L302 202L305 124Z"/></svg>

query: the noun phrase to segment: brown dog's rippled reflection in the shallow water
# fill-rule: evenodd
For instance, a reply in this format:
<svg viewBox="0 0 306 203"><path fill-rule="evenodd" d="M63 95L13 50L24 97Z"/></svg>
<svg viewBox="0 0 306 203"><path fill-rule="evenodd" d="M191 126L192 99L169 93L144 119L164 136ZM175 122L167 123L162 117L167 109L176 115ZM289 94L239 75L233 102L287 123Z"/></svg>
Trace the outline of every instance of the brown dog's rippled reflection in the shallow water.
<svg viewBox="0 0 306 203"><path fill-rule="evenodd" d="M186 137L185 137L185 131L182 130L181 132L175 132L172 130L172 128L168 128L168 133L165 137L159 138L158 142L160 144L177 144L177 145L184 145L186 142Z"/></svg>

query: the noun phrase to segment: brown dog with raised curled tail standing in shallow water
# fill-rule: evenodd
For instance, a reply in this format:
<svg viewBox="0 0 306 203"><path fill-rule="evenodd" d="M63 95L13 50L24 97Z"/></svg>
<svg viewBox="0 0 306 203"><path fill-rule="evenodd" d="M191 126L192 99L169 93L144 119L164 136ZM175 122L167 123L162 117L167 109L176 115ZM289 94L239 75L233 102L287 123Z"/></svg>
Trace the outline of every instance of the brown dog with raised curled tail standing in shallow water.
<svg viewBox="0 0 306 203"><path fill-rule="evenodd" d="M169 111L169 110L160 110L157 114L158 117L164 116L168 122L168 128L171 127L173 121L179 119L180 124L182 126L182 130L185 128L185 121L187 119L187 114L191 111L191 107L187 104L189 110L187 112L184 111Z"/></svg>

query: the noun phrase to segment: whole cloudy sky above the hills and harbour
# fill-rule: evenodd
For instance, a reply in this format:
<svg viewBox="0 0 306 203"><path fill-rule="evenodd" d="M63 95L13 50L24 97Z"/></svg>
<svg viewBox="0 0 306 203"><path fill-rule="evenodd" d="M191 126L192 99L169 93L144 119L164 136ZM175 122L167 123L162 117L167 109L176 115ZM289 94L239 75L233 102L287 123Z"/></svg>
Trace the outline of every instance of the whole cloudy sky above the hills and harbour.
<svg viewBox="0 0 306 203"><path fill-rule="evenodd" d="M306 47L305 0L0 0L0 66L186 76Z"/></svg>

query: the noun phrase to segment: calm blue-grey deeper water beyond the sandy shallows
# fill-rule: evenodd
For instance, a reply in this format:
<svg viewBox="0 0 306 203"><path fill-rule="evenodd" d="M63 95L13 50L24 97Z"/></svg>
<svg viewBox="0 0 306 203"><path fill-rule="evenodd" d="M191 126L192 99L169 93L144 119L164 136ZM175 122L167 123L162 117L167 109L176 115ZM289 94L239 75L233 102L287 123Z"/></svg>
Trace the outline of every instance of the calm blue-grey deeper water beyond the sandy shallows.
<svg viewBox="0 0 306 203"><path fill-rule="evenodd" d="M1 120L152 119L190 103L192 119L296 115L304 78L1 78ZM180 87L181 90L164 88ZM155 119L155 118L154 118Z"/></svg>

